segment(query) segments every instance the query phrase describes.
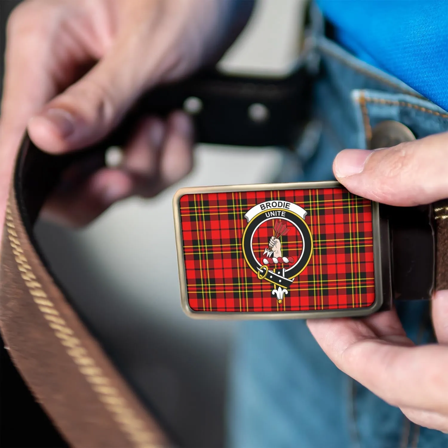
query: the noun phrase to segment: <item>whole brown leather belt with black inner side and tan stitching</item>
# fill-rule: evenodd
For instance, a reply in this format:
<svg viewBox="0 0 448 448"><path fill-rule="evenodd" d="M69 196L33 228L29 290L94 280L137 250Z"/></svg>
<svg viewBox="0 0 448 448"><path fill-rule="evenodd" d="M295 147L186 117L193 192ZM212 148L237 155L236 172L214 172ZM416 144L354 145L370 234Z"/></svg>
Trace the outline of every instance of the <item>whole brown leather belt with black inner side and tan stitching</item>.
<svg viewBox="0 0 448 448"><path fill-rule="evenodd" d="M200 141L255 146L285 144L293 141L306 121L303 112L295 111L290 121L282 120L280 133L275 125L284 117L281 104L285 101L297 104L297 95L303 98L306 78L300 80L279 84L244 78L226 80L214 74L200 78L198 83L188 81L183 87L177 86L177 92L171 90L175 92L171 102L158 103L157 95L161 94L157 93L152 97L151 107L155 104L165 108L179 107L187 96L203 99L205 95L211 104L211 112L204 114L204 118L196 118ZM291 88L295 93L291 93ZM205 99L203 101L207 103ZM274 123L272 128L268 125L263 128L264 137L258 131L262 128L257 128L254 122L238 119L238 113L230 114L229 118L226 113L230 109L246 113L248 105L262 102L270 108ZM220 123L216 117L220 116L225 117L221 122L226 132L224 128L215 127ZM229 120L234 120L233 134L228 133ZM129 121L124 126L129 126ZM33 237L39 210L61 172L82 157L103 160L106 148L112 142L120 144L124 138L124 131L119 130L111 139L88 151L55 157L39 151L25 137L17 157L4 223L0 271L1 333L15 366L37 401L69 444L77 447L170 444L159 422L143 407L103 350L101 341L90 332L62 286L52 276ZM423 262L426 265L435 263L435 271L429 270L429 280L423 288L423 294L428 297L433 292L434 279L436 289L448 289L448 200L439 201L425 210L423 214L420 211L419 216L426 213L434 247L430 248L432 259ZM408 212L413 213L410 209ZM389 215L390 222L396 222L392 227L398 240L403 235L400 225L404 220L400 216L396 212ZM427 237L428 232L425 232ZM428 241L425 238L422 241ZM397 256L398 253L394 253L394 257ZM399 269L405 272L403 267ZM419 293L416 296L421 298Z"/></svg>

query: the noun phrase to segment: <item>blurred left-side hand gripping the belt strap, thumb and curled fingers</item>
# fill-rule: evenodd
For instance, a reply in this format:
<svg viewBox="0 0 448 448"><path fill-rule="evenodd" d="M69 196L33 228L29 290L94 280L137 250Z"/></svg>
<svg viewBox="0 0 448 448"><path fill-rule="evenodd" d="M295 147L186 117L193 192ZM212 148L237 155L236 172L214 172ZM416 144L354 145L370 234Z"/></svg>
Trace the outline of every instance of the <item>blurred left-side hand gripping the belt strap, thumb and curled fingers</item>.
<svg viewBox="0 0 448 448"><path fill-rule="evenodd" d="M249 6L248 6L249 5ZM227 0L28 0L7 27L0 117L0 221L17 147L28 126L60 154L108 134L147 89L216 60L250 13ZM183 112L143 117L118 169L104 168L58 193L44 214L82 225L132 194L150 197L192 167L192 123Z"/></svg>

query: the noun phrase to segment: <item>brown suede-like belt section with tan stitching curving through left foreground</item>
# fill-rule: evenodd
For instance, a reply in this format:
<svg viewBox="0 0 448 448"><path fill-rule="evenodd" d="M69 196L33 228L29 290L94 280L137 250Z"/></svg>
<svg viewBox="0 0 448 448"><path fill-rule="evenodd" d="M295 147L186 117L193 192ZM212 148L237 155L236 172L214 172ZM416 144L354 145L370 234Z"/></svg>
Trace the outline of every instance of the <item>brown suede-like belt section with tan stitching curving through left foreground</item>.
<svg viewBox="0 0 448 448"><path fill-rule="evenodd" d="M48 189L48 183L39 178L48 171L34 178L40 187L36 184L31 194L22 187L31 188L32 177L22 181L22 175L30 168L27 156L36 162L37 151L26 139L6 210L0 270L0 327L5 345L35 398L70 445L168 446L156 419L67 301L35 247L32 225ZM55 161L47 168L61 166Z"/></svg>

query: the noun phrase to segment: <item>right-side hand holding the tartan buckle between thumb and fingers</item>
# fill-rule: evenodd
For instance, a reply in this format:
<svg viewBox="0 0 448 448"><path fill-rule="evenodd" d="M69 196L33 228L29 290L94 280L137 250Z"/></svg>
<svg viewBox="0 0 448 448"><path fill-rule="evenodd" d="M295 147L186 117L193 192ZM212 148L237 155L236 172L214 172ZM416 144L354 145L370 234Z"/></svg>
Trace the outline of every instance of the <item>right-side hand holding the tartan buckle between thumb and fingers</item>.
<svg viewBox="0 0 448 448"><path fill-rule="evenodd" d="M395 206L448 197L448 134L376 151L345 150L333 164L354 194ZM432 300L437 345L416 347L395 310L366 319L308 321L341 370L398 406L413 422L448 432L448 290Z"/></svg>

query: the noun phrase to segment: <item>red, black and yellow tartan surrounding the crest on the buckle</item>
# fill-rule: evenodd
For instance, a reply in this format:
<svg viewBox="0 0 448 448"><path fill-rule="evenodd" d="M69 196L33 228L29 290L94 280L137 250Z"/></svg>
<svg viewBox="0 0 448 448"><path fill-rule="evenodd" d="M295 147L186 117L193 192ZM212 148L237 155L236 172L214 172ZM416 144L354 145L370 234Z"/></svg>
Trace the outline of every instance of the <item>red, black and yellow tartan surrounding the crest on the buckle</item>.
<svg viewBox="0 0 448 448"><path fill-rule="evenodd" d="M274 285L259 280L246 263L241 245L248 224L244 215L268 200L303 207L313 239L310 262L281 304L272 294ZM372 205L345 188L185 194L180 213L192 310L328 310L368 307L375 301ZM254 253L259 250L260 262L273 222L254 234ZM281 241L285 254L297 259L302 241L294 230Z"/></svg>

